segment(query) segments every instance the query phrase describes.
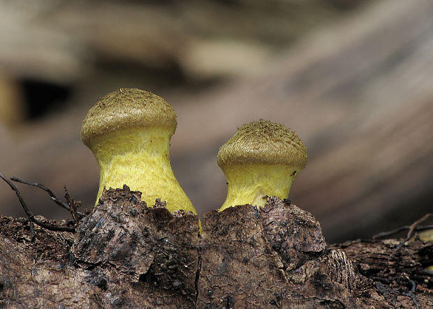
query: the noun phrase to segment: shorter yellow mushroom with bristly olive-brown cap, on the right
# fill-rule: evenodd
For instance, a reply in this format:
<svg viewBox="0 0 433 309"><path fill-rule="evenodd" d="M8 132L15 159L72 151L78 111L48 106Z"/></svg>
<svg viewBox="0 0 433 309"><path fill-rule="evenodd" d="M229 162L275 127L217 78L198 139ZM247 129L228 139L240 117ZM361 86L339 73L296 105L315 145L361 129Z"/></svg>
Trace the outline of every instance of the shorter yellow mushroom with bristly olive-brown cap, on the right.
<svg viewBox="0 0 433 309"><path fill-rule="evenodd" d="M293 179L307 164L300 138L279 123L254 121L242 126L218 152L226 175L226 202L230 206L264 206L265 195L288 197Z"/></svg>

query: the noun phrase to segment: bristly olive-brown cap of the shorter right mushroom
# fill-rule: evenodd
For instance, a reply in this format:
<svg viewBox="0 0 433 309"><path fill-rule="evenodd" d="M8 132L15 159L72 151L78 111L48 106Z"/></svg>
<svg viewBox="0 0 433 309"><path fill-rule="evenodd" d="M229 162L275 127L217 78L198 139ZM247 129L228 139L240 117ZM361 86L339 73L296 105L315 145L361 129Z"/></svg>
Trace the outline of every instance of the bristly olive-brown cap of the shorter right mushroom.
<svg viewBox="0 0 433 309"><path fill-rule="evenodd" d="M288 128L260 119L240 127L221 146L217 159L220 167L233 163L265 163L303 169L307 164L307 149Z"/></svg>

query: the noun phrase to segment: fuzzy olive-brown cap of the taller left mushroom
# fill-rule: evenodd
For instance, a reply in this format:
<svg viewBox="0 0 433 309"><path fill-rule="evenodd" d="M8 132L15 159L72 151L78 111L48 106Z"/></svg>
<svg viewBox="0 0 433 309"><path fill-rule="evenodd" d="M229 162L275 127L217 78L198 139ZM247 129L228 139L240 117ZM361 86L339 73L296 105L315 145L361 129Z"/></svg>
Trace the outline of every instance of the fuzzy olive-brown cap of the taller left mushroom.
<svg viewBox="0 0 433 309"><path fill-rule="evenodd" d="M173 108L154 93L136 88L108 93L91 107L81 126L81 140L89 146L94 137L137 127L171 129L177 126Z"/></svg>

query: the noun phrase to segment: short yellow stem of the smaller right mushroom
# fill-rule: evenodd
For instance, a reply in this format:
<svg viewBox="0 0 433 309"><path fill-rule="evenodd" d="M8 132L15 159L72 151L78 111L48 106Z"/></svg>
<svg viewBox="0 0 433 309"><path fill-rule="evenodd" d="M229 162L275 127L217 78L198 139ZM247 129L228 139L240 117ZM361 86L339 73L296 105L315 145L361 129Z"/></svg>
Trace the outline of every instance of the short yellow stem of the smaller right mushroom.
<svg viewBox="0 0 433 309"><path fill-rule="evenodd" d="M263 196L286 199L298 171L293 167L267 163L244 163L223 167L228 182L227 198L219 211L230 206L265 206Z"/></svg>

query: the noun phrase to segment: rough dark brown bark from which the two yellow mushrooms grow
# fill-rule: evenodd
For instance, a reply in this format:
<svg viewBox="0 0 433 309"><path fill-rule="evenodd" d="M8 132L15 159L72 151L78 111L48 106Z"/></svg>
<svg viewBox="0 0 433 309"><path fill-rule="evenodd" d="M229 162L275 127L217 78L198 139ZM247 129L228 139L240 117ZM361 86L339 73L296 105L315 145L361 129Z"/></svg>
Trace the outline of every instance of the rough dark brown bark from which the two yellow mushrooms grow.
<svg viewBox="0 0 433 309"><path fill-rule="evenodd" d="M310 213L276 197L207 213L200 234L196 216L147 207L126 186L105 191L75 233L0 220L4 308L433 306L432 242L326 246Z"/></svg>

